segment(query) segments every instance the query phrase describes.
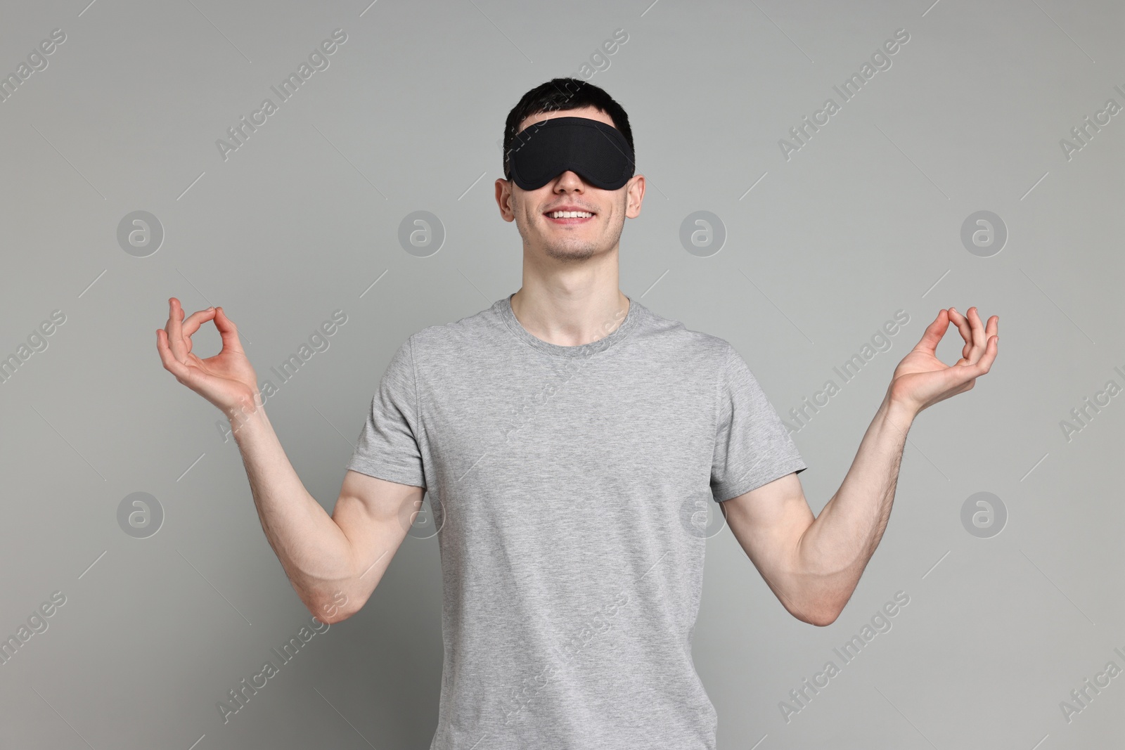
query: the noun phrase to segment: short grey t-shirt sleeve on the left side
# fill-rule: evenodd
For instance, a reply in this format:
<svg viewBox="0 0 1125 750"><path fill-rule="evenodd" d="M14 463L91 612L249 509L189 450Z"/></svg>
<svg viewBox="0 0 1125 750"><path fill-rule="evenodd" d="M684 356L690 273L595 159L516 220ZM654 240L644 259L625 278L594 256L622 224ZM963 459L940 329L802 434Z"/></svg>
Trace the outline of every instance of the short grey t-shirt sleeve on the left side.
<svg viewBox="0 0 1125 750"><path fill-rule="evenodd" d="M413 338L403 342L390 358L346 468L399 485L425 487L417 440Z"/></svg>

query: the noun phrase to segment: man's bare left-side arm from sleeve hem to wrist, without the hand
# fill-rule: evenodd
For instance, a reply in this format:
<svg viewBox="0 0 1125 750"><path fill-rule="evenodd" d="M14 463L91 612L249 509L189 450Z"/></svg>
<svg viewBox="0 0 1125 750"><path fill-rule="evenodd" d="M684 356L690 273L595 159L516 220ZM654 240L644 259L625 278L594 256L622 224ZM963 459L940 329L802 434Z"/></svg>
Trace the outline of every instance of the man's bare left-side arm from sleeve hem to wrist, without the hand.
<svg viewBox="0 0 1125 750"><path fill-rule="evenodd" d="M289 582L322 622L346 620L371 596L406 537L423 488L349 470L328 516L297 477L266 410L237 422L232 428L258 516Z"/></svg>

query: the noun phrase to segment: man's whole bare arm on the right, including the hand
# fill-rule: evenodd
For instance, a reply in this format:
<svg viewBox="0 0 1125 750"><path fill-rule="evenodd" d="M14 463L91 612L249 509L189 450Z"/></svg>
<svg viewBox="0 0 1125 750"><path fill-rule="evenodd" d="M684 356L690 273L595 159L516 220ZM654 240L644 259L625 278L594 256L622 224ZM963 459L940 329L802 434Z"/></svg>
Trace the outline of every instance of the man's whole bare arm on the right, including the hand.
<svg viewBox="0 0 1125 750"><path fill-rule="evenodd" d="M950 323L965 345L956 364L936 356ZM829 625L852 597L886 528L902 449L914 418L937 401L970 390L997 354L999 317L988 327L975 307L965 317L942 310L899 363L852 468L813 517L795 473L722 503L731 532L785 609Z"/></svg>

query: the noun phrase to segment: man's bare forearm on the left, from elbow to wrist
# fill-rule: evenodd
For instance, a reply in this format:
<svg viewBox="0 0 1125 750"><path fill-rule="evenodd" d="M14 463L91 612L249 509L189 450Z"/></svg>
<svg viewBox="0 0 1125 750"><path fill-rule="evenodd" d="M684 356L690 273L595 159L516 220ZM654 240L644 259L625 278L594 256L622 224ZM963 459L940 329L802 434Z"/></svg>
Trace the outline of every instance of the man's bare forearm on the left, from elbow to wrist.
<svg viewBox="0 0 1125 750"><path fill-rule="evenodd" d="M231 417L262 531L305 605L320 616L354 579L348 536L294 470L264 408Z"/></svg>

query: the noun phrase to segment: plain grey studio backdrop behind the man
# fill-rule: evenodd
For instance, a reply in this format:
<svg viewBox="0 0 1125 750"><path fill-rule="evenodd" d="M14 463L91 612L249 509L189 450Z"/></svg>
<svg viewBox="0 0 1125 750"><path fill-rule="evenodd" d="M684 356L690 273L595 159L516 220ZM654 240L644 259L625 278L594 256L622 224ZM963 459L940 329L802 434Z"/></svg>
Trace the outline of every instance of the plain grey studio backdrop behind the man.
<svg viewBox="0 0 1125 750"><path fill-rule="evenodd" d="M622 236L626 293L729 340L785 418L910 316L793 434L814 512L937 311L1001 317L992 371L915 423L885 536L832 625L791 617L729 528L708 542L695 659L720 747L1120 747L1125 677L1070 722L1060 702L1125 667L1125 397L1069 441L1060 423L1125 385L1125 114L1070 160L1059 143L1125 105L1120 3L650 1L3 3L3 74L52 29L66 40L0 103L0 354L52 310L66 322L0 385L0 634L52 591L66 603L0 666L0 746L429 747L432 537L407 537L363 611L223 723L216 703L308 613L220 414L163 370L154 331L170 296L223 305L263 379L346 313L267 406L331 510L395 349L520 286L493 198L508 109L623 28L590 80L628 110L648 179ZM335 28L330 67L224 161L215 141ZM899 28L892 66L786 161L778 139ZM163 226L147 257L116 240L135 210ZM415 210L446 231L428 257L398 244ZM695 210L726 227L706 257L680 243ZM978 210L1007 226L990 257L961 242ZM938 354L960 349L951 328ZM196 351L218 351L209 324ZM146 539L117 522L137 491L164 513ZM988 539L961 522L980 491L1008 514ZM789 690L899 590L893 629L786 723Z"/></svg>

